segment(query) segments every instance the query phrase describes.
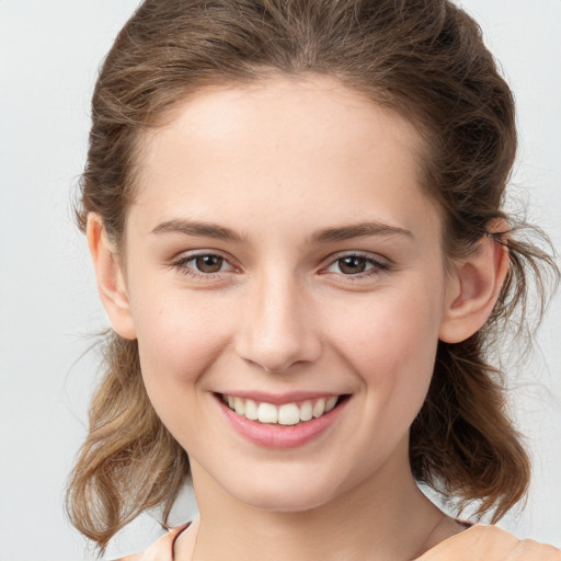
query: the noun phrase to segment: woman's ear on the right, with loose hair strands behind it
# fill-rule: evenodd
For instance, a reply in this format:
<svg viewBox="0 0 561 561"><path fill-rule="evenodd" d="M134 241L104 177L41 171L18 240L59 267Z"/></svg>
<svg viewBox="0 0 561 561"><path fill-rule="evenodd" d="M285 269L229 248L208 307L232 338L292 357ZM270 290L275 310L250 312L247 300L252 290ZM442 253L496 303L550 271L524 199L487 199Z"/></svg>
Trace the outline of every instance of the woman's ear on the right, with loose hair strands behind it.
<svg viewBox="0 0 561 561"><path fill-rule="evenodd" d="M440 341L459 343L483 327L493 311L507 272L508 250L493 236L483 238L473 253L459 261L449 279L446 309L438 332Z"/></svg>

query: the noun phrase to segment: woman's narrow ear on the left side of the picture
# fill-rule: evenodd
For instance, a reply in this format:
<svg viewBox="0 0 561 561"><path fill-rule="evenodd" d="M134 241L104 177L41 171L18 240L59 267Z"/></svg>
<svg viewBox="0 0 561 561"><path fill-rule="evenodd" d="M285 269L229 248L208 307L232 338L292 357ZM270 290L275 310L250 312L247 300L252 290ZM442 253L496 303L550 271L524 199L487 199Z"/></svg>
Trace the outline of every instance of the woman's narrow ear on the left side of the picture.
<svg viewBox="0 0 561 561"><path fill-rule="evenodd" d="M121 263L107 240L103 220L95 213L88 215L85 236L98 279L98 290L111 325L122 337L136 339Z"/></svg>

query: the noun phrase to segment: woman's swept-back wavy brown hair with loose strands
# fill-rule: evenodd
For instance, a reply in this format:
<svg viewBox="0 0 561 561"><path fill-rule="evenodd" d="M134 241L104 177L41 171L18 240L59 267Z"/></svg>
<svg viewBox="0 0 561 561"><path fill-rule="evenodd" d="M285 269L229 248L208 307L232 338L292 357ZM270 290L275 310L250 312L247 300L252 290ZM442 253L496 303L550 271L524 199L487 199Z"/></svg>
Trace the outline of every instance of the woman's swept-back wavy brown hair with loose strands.
<svg viewBox="0 0 561 561"><path fill-rule="evenodd" d="M450 257L484 236L510 250L511 268L485 327L440 343L428 397L411 430L414 477L500 518L524 496L527 454L505 411L501 373L486 362L493 334L524 310L529 277L543 304L547 252L517 239L502 210L516 152L512 93L478 25L448 0L147 0L101 70L78 213L98 213L117 245L134 197L142 133L208 84L265 75L325 73L409 118L425 139L424 188L443 210ZM493 233L497 219L508 232ZM529 276L528 276L529 274ZM522 321L517 317L516 321ZM185 451L151 407L137 344L116 334L69 484L72 523L101 550L142 511L164 522L188 477Z"/></svg>

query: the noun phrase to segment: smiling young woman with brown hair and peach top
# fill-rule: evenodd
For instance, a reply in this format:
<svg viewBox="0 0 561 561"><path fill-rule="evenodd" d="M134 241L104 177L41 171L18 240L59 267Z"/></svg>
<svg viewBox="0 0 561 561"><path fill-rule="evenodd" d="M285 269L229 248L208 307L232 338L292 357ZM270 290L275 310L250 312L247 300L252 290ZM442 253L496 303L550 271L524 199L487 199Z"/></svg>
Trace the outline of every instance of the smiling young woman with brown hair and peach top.
<svg viewBox="0 0 561 561"><path fill-rule="evenodd" d="M93 98L80 225L111 320L69 488L135 559L561 559L488 351L556 273L502 208L512 94L446 0L147 0ZM542 293L543 294L543 293Z"/></svg>

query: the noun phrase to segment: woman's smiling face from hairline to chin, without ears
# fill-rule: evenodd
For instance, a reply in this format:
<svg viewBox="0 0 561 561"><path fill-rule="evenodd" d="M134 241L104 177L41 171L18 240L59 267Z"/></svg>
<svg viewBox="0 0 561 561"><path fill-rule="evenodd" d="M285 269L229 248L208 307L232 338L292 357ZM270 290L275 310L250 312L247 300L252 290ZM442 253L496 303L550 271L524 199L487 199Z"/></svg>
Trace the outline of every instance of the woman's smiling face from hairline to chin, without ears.
<svg viewBox="0 0 561 561"><path fill-rule="evenodd" d="M145 138L130 335L195 488L302 511L408 471L447 300L420 147L319 78L207 90Z"/></svg>

